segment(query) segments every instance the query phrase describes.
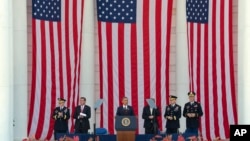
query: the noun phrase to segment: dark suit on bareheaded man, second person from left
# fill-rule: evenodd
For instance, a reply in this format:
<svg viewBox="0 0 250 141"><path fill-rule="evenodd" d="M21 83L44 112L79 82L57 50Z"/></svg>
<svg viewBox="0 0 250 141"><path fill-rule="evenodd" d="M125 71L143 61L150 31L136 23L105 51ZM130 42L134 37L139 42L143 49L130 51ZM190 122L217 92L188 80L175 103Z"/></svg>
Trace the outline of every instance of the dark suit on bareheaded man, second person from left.
<svg viewBox="0 0 250 141"><path fill-rule="evenodd" d="M90 129L89 118L91 117L91 108L88 105L84 106L82 113L86 114L86 117L80 118L81 106L75 108L74 119L75 119L75 130L79 129Z"/></svg>

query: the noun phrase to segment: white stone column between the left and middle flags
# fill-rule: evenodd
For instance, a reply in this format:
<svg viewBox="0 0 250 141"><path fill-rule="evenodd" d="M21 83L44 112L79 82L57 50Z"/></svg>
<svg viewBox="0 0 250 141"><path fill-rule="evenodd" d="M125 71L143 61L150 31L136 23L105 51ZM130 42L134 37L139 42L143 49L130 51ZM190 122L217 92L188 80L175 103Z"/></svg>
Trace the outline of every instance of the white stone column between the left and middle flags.
<svg viewBox="0 0 250 141"><path fill-rule="evenodd" d="M82 58L81 58L81 83L80 96L86 97L86 104L91 106L90 130L93 132L93 123L95 120L94 103L96 100L95 93L95 64L96 64L96 38L95 38L95 16L94 1L85 0L84 19L83 19L83 39L82 39Z"/></svg>

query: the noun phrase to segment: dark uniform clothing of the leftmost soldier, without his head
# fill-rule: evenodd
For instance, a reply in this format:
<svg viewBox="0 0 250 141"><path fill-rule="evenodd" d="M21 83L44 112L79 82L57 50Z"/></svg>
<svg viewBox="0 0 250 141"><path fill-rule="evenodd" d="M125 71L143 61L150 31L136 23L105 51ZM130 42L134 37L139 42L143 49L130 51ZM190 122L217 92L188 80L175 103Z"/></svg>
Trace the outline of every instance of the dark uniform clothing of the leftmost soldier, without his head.
<svg viewBox="0 0 250 141"><path fill-rule="evenodd" d="M62 117L59 117L59 112L63 114ZM53 111L52 118L55 120L54 130L68 131L68 119L70 118L70 111L67 107L63 107L62 110L60 110L60 107L56 107Z"/></svg>

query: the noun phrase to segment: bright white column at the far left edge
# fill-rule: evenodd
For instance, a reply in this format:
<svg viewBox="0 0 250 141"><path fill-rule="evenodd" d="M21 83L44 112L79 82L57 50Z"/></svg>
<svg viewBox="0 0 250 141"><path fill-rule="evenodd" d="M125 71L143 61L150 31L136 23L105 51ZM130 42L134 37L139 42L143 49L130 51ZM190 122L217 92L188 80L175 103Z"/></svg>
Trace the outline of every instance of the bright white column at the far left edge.
<svg viewBox="0 0 250 141"><path fill-rule="evenodd" d="M0 138L13 140L13 12L12 0L0 4Z"/></svg>

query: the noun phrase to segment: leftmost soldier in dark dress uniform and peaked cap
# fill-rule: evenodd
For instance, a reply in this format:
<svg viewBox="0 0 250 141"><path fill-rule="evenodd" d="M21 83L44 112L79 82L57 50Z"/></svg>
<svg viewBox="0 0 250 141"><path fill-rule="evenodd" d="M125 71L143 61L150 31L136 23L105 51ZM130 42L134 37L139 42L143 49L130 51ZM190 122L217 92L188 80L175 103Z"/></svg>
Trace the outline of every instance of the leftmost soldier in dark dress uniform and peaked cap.
<svg viewBox="0 0 250 141"><path fill-rule="evenodd" d="M56 139L57 133L68 132L68 119L70 118L70 111L64 106L65 99L58 98L59 106L53 111L52 118L55 120L54 124L54 138Z"/></svg>

